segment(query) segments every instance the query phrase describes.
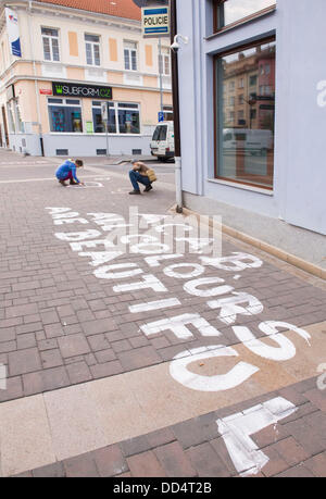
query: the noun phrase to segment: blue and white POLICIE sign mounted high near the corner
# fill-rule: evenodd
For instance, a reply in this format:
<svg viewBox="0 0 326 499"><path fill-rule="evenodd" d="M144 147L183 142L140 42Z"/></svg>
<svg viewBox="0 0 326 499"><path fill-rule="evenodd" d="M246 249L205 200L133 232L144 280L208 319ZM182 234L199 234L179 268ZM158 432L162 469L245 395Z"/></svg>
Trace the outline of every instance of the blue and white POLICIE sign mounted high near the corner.
<svg viewBox="0 0 326 499"><path fill-rule="evenodd" d="M142 36L160 37L170 35L168 7L141 9Z"/></svg>

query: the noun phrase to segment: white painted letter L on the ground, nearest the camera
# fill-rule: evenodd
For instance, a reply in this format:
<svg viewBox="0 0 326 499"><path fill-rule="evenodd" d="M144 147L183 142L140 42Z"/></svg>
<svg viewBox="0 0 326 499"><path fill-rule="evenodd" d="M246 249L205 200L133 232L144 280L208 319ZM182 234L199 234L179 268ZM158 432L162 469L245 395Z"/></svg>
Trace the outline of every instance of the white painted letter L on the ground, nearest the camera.
<svg viewBox="0 0 326 499"><path fill-rule="evenodd" d="M250 436L275 425L294 411L296 406L281 397L276 397L247 411L216 421L218 432L241 476L256 475L269 461Z"/></svg>

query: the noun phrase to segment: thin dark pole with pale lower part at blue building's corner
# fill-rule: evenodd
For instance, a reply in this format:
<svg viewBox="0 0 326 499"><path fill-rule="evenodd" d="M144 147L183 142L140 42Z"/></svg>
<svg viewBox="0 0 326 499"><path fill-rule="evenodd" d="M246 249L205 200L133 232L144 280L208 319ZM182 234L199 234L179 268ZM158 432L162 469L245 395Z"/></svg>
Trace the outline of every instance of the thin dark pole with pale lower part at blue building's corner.
<svg viewBox="0 0 326 499"><path fill-rule="evenodd" d="M171 0L171 45L177 35L177 0ZM181 141L180 141L180 116L179 116L179 78L178 78L178 57L171 51L172 65L172 95L174 112L174 148L175 148L175 187L176 187L176 211L183 212L183 176L181 176Z"/></svg>

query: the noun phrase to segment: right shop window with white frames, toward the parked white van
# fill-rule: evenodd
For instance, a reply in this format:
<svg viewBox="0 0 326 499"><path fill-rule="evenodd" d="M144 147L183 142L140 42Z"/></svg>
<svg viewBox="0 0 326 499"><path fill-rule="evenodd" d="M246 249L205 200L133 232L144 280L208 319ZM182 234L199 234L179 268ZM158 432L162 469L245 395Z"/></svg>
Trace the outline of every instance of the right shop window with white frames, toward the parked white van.
<svg viewBox="0 0 326 499"><path fill-rule="evenodd" d="M100 101L92 101L92 122L96 134L106 132ZM109 102L109 134L140 134L139 104Z"/></svg>

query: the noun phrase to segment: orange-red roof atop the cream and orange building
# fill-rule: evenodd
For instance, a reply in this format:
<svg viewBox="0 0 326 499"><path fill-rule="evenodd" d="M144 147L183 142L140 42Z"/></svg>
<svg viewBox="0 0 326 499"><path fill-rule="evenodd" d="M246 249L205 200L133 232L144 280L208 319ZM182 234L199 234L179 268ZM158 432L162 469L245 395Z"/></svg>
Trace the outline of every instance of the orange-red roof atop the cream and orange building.
<svg viewBox="0 0 326 499"><path fill-rule="evenodd" d="M141 10L134 0L36 0L40 3L68 7L88 12L140 21Z"/></svg>

